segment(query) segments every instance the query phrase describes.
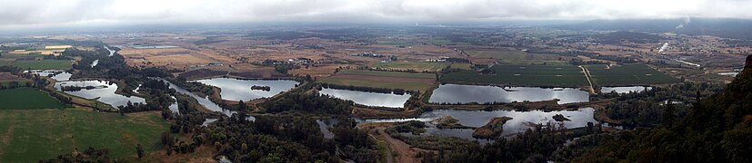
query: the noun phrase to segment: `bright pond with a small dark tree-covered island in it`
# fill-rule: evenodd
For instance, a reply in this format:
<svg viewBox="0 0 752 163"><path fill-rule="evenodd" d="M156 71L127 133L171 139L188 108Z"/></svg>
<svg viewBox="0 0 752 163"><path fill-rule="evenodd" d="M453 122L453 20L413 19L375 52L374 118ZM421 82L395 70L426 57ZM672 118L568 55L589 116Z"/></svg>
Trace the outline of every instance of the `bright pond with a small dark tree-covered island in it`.
<svg viewBox="0 0 752 163"><path fill-rule="evenodd" d="M206 85L219 87L222 99L228 101L253 101L272 97L282 91L290 91L298 82L290 80L240 80L234 78L213 78L198 80ZM267 87L269 90L252 89L253 86Z"/></svg>

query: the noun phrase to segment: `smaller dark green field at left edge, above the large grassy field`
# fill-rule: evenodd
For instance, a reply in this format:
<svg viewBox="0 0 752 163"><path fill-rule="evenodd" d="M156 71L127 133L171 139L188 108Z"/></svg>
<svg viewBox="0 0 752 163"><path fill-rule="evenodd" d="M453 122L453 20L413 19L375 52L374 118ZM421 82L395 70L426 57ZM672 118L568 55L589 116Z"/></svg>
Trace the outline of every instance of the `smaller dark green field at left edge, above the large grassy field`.
<svg viewBox="0 0 752 163"><path fill-rule="evenodd" d="M63 109L65 104L34 88L0 90L0 110Z"/></svg>

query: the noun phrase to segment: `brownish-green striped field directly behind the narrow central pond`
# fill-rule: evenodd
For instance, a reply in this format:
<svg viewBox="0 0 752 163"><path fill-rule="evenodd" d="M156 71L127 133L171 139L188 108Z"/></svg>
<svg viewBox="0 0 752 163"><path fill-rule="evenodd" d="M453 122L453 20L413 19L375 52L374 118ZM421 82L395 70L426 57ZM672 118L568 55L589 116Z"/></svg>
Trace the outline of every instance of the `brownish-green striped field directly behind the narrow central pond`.
<svg viewBox="0 0 752 163"><path fill-rule="evenodd" d="M342 70L318 82L360 87L426 91L436 83L436 75L432 73Z"/></svg>

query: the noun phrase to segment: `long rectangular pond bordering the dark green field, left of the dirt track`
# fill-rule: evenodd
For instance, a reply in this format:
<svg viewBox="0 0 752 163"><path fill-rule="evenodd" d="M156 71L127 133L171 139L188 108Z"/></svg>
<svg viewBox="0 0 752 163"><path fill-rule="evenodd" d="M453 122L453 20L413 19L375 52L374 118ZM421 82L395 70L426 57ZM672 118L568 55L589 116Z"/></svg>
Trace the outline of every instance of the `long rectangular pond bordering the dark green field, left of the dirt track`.
<svg viewBox="0 0 752 163"><path fill-rule="evenodd" d="M589 101L587 91L575 88L496 87L480 85L440 85L431 98L431 103L494 103L522 101L550 101L558 104Z"/></svg>

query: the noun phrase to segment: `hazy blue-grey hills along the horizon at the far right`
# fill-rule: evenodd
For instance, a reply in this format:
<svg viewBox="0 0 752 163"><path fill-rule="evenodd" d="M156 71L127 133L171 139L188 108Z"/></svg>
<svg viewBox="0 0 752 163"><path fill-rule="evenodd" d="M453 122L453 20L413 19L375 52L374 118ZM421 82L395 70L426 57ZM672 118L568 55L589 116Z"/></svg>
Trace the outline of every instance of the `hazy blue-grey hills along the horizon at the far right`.
<svg viewBox="0 0 752 163"><path fill-rule="evenodd" d="M593 20L578 24L556 25L569 30L638 31L652 33L715 35L752 39L752 19L734 18L676 18Z"/></svg>

